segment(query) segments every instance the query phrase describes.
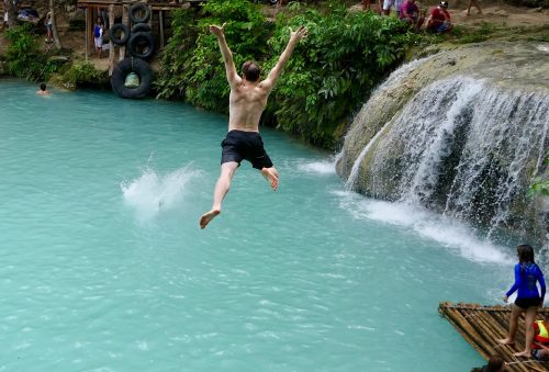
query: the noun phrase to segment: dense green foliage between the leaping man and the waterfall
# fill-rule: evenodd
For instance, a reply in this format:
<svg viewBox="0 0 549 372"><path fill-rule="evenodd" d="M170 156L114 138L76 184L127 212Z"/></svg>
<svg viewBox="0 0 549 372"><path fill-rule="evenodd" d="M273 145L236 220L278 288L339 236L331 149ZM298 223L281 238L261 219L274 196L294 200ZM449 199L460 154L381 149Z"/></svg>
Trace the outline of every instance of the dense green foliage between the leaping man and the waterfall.
<svg viewBox="0 0 549 372"><path fill-rule="evenodd" d="M305 25L309 36L294 50L267 115L278 127L310 142L333 147L333 134L365 102L366 97L400 64L417 36L394 18L349 12L330 3L327 13L306 10L279 19L269 41L273 66L288 42L288 26Z"/></svg>

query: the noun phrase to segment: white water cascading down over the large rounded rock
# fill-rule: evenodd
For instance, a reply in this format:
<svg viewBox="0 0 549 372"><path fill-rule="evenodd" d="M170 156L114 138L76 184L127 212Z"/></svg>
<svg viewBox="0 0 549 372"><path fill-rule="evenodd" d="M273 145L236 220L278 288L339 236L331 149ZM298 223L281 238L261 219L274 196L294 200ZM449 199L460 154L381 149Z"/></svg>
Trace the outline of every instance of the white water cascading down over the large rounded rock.
<svg viewBox="0 0 549 372"><path fill-rule="evenodd" d="M401 93L401 105L393 102L396 110L374 136L360 127L365 124L354 123L340 162L352 160L352 145L347 143L358 143L357 128L370 139L352 148L350 171L339 165L340 174L349 173L347 188L472 221L486 227L489 238L509 229L520 235L528 230L534 215L539 216L526 191L531 178L544 171L549 92L477 76L450 74L410 97ZM402 80L397 89L411 90ZM385 84L395 90L399 81ZM378 92L372 99L391 101ZM371 102L361 111L366 117L371 115L369 106Z"/></svg>

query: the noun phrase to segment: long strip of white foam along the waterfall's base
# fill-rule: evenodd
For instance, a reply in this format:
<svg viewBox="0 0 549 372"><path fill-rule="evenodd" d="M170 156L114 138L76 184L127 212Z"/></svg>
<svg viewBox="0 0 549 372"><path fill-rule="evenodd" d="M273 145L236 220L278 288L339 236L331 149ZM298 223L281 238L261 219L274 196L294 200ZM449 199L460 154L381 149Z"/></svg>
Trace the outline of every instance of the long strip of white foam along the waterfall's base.
<svg viewBox="0 0 549 372"><path fill-rule="evenodd" d="M438 241L475 262L513 263L504 247L478 238L467 225L450 217L407 203L370 200L354 192L335 193L341 198L341 206L356 218L368 218L410 228L422 237Z"/></svg>

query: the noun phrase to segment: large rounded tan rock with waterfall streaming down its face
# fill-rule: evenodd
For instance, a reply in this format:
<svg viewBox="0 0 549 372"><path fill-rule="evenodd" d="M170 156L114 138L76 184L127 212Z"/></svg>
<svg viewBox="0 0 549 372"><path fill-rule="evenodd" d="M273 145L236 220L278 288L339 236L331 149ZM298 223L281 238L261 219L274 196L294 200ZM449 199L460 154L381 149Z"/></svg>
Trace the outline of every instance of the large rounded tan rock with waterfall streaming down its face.
<svg viewBox="0 0 549 372"><path fill-rule="evenodd" d="M542 237L549 44L445 50L395 71L363 105L337 161L349 188Z"/></svg>

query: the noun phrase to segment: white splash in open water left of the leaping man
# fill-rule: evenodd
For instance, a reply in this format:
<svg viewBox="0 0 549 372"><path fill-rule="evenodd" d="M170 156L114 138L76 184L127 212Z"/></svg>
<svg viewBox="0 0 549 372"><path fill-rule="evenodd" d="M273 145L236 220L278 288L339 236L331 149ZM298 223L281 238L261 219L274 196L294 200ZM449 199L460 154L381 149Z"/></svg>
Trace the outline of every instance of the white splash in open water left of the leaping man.
<svg viewBox="0 0 549 372"><path fill-rule="evenodd" d="M139 219L146 221L179 205L189 181L199 174L199 170L183 167L159 176L147 167L137 179L122 182L120 187L125 203L135 208Z"/></svg>

